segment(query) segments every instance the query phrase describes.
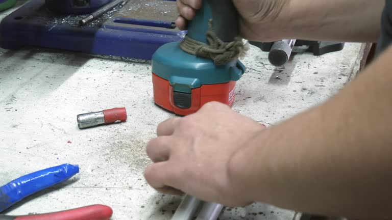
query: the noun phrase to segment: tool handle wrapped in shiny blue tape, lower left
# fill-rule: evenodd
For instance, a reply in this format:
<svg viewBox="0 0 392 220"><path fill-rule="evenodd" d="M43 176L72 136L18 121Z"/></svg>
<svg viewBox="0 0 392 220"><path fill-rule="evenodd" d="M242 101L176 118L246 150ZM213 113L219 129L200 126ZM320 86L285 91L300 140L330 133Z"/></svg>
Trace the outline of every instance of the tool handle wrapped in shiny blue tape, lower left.
<svg viewBox="0 0 392 220"><path fill-rule="evenodd" d="M68 163L19 177L0 187L0 212L38 191L63 182L79 173L78 165Z"/></svg>

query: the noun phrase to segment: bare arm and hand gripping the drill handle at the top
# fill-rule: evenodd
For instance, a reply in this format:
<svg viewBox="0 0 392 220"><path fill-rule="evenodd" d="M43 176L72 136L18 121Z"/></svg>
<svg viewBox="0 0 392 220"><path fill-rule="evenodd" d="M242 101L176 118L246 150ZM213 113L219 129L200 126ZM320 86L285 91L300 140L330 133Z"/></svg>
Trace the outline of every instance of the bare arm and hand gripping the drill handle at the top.
<svg viewBox="0 0 392 220"><path fill-rule="evenodd" d="M240 16L241 36L260 42L282 38L375 42L385 0L232 0ZM177 0L181 29L202 0Z"/></svg>

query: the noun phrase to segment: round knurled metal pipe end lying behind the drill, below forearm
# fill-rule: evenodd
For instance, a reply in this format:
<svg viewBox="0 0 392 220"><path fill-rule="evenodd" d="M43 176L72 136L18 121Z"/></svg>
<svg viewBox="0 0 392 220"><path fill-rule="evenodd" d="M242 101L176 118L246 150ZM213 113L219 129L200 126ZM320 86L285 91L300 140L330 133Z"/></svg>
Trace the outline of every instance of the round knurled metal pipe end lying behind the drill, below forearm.
<svg viewBox="0 0 392 220"><path fill-rule="evenodd" d="M290 58L296 39L285 39L275 42L268 53L268 61L274 66L283 66Z"/></svg>

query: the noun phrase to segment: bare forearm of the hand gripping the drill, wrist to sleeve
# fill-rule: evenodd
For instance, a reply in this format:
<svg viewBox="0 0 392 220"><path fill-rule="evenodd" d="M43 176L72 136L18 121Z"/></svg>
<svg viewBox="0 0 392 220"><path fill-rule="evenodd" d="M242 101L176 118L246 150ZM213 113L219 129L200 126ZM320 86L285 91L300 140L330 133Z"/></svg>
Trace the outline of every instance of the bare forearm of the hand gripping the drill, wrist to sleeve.
<svg viewBox="0 0 392 220"><path fill-rule="evenodd" d="M375 42L385 0L291 0L286 38ZM303 6L303 7L299 7Z"/></svg>

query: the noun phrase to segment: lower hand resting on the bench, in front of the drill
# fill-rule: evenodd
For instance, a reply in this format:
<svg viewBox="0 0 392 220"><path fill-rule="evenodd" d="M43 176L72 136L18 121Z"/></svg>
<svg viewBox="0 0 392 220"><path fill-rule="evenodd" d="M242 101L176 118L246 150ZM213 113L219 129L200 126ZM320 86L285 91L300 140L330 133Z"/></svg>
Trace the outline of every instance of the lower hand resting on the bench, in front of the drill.
<svg viewBox="0 0 392 220"><path fill-rule="evenodd" d="M264 127L218 102L205 104L195 114L166 120L146 147L154 163L145 169L144 177L164 194L186 193L229 206L248 205L254 201L242 184L233 181L228 163Z"/></svg>

